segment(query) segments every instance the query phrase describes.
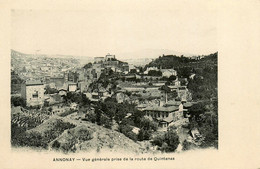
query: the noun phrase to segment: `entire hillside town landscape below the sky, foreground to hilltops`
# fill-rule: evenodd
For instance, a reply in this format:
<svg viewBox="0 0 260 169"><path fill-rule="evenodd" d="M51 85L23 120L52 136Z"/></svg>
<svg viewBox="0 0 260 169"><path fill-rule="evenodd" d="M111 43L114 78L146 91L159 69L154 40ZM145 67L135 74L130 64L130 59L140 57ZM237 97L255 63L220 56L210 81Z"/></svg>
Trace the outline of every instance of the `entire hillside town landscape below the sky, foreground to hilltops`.
<svg viewBox="0 0 260 169"><path fill-rule="evenodd" d="M218 53L144 66L11 50L11 145L76 152L218 148Z"/></svg>

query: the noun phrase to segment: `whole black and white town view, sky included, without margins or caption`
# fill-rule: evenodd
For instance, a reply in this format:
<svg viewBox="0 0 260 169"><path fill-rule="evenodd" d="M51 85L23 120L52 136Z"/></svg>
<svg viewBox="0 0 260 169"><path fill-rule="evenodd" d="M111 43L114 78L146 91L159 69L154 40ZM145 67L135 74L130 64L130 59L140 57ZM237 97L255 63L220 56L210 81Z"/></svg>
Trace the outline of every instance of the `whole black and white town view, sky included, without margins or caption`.
<svg viewBox="0 0 260 169"><path fill-rule="evenodd" d="M12 10L12 147L217 149L216 11L186 12Z"/></svg>

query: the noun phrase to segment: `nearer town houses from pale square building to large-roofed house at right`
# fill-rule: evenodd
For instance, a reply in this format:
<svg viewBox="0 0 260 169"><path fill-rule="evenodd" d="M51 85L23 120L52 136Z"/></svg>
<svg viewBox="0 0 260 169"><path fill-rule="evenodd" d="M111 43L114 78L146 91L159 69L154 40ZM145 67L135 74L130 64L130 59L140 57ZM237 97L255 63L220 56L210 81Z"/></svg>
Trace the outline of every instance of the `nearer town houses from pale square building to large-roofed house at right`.
<svg viewBox="0 0 260 169"><path fill-rule="evenodd" d="M44 68L43 68L44 69ZM125 79L139 79L139 82L121 82L117 85L118 89L114 92L108 91L106 88L99 88L96 91L89 91L89 85L100 77L101 73L108 70L118 72ZM134 70L134 71L133 71ZM160 77L149 76L149 71L161 71ZM44 70L43 70L44 71ZM137 108L145 112L145 117L156 121L159 130L166 131L169 126L188 123L185 116L187 109L191 106L189 99L189 91L185 85L181 85L177 72L174 69L162 69L157 67L148 67L142 74L140 70L134 66L128 65L116 59L115 55L107 54L105 57L95 57L94 63L89 68L77 69L77 71L69 71L59 77L47 77L45 80L28 80L22 84L21 96L26 100L27 106L42 106L45 102L50 103L53 113L64 112L67 108L63 107L62 96L67 92L84 93L91 101L105 100L108 97L115 97L118 103L124 101L132 101L137 103ZM132 73L135 72L135 73ZM176 79L168 85L169 92L176 92L180 100L169 100L160 88L165 85L166 81L161 80L162 77L169 78L176 76ZM46 87L56 89L53 94L46 94ZM142 98L153 98L157 96L159 104L154 100L150 104L144 102L136 102L126 95L126 92L132 95L140 95ZM165 97L165 101L162 99ZM71 109L77 109L77 105L72 105Z"/></svg>

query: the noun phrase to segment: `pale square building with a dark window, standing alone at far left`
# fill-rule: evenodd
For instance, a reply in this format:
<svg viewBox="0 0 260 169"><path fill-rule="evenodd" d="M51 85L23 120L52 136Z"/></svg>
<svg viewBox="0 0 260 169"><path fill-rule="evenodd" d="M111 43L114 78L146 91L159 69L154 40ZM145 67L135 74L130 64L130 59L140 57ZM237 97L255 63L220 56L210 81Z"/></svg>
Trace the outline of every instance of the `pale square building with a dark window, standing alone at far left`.
<svg viewBox="0 0 260 169"><path fill-rule="evenodd" d="M21 96L27 106L41 106L44 103L44 85L41 81L27 81L22 84Z"/></svg>

